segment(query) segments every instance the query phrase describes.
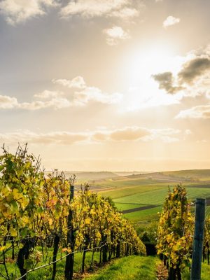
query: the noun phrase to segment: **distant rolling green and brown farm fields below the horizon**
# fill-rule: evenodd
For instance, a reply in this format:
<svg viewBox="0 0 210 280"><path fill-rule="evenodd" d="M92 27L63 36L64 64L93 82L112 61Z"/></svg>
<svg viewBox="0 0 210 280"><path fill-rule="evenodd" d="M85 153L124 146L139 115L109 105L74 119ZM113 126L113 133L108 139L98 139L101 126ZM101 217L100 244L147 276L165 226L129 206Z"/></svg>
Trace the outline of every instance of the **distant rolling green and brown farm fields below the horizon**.
<svg viewBox="0 0 210 280"><path fill-rule="evenodd" d="M158 219L169 188L177 184L186 186L192 202L198 197L210 197L209 169L112 176L94 181L90 178L87 182L92 190L111 197L118 210L133 223ZM210 214L209 204L207 200L207 214Z"/></svg>

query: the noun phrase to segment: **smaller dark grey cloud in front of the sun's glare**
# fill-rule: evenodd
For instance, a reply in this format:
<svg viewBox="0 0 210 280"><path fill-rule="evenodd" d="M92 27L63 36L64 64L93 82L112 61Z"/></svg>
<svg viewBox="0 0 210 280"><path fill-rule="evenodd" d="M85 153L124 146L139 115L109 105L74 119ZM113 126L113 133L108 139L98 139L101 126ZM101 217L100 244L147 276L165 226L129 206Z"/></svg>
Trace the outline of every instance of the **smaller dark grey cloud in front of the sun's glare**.
<svg viewBox="0 0 210 280"><path fill-rule="evenodd" d="M156 82L159 83L159 88L161 90L166 90L169 94L174 94L183 89L183 87L176 87L173 85L174 77L172 75L172 72L158 73L156 75L153 75L153 78L154 80L156 80Z"/></svg>

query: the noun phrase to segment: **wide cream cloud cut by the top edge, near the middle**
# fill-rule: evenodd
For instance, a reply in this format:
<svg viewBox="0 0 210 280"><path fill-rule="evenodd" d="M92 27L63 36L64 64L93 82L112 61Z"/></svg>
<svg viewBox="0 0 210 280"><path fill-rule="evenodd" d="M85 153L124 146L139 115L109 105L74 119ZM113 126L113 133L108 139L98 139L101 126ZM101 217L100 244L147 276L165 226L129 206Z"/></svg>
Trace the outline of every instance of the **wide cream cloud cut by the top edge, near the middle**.
<svg viewBox="0 0 210 280"><path fill-rule="evenodd" d="M139 4L139 6L143 5ZM64 18L72 15L80 15L84 18L101 16L132 18L139 15L139 10L134 8L133 1L130 0L78 0L69 1L60 13Z"/></svg>

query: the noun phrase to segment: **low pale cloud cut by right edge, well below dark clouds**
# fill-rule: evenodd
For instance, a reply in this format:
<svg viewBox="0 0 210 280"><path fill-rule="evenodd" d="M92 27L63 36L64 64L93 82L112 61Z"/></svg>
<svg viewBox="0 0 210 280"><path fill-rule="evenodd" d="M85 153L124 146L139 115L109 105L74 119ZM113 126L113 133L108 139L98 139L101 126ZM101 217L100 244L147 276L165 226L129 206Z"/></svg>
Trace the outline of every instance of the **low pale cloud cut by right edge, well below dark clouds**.
<svg viewBox="0 0 210 280"><path fill-rule="evenodd" d="M210 118L210 104L200 105L188 110L180 111L175 118Z"/></svg>

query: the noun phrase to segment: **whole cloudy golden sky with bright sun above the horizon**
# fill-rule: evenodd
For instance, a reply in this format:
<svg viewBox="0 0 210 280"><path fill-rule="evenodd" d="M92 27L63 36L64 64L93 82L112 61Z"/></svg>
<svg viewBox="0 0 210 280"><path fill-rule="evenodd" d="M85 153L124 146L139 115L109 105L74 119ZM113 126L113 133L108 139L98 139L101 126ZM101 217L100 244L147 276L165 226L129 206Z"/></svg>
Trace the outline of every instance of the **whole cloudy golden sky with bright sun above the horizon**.
<svg viewBox="0 0 210 280"><path fill-rule="evenodd" d="M210 1L0 0L0 144L45 169L210 168Z"/></svg>

